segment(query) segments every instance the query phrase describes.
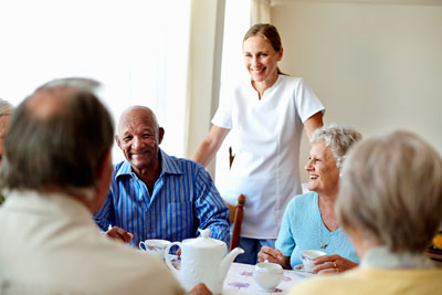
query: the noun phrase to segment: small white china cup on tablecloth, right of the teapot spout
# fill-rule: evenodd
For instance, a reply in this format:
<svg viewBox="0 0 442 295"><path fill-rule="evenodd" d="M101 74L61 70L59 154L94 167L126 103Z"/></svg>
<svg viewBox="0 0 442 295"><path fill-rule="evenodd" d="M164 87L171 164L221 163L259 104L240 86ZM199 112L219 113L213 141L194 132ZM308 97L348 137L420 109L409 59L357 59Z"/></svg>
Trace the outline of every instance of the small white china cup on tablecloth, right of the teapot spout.
<svg viewBox="0 0 442 295"><path fill-rule="evenodd" d="M266 292L273 292L283 280L283 267L269 261L257 263L253 270L256 284Z"/></svg>

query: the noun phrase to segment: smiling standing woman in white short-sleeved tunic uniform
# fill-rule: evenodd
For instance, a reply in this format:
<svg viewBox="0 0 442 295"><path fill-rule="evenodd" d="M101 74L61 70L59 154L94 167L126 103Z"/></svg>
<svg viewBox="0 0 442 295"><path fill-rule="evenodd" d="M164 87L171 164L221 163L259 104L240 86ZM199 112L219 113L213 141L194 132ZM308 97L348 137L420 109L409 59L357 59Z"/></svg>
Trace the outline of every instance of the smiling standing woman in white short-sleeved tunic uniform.
<svg viewBox="0 0 442 295"><path fill-rule="evenodd" d="M299 194L299 144L323 126L323 104L299 77L282 74L280 34L271 24L255 24L243 39L246 81L223 85L212 128L193 155L202 166L214 158L232 129L235 158L227 186L218 189L231 203L245 196L236 261L256 263L261 246L274 247L288 201Z"/></svg>

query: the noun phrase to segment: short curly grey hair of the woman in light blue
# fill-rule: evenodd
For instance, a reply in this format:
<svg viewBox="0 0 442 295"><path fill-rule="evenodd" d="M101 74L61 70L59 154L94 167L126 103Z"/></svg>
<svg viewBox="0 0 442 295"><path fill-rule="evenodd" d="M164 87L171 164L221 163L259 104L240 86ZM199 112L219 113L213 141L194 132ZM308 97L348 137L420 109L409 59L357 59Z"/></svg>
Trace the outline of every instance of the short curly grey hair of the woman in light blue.
<svg viewBox="0 0 442 295"><path fill-rule="evenodd" d="M330 147L336 167L339 168L348 149L361 138L362 135L351 127L330 124L317 128L311 136L311 144L324 143L326 147Z"/></svg>

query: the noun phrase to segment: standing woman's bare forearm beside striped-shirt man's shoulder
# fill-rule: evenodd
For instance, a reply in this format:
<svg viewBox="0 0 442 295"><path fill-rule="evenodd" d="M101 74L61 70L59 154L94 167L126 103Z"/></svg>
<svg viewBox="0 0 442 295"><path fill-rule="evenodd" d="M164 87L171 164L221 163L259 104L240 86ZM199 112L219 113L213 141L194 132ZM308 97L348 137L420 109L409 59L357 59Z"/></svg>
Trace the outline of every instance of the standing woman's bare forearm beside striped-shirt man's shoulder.
<svg viewBox="0 0 442 295"><path fill-rule="evenodd" d="M214 158L214 155L217 155L217 151L220 149L222 141L224 141L224 138L229 131L230 129L213 125L194 151L192 160L201 164L203 167L207 167Z"/></svg>

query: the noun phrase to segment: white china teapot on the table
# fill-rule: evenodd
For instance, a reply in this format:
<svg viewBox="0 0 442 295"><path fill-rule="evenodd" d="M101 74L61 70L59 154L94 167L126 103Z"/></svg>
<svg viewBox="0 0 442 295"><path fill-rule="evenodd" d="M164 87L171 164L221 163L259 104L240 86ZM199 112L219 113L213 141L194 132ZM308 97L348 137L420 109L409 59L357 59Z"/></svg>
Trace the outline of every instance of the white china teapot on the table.
<svg viewBox="0 0 442 295"><path fill-rule="evenodd" d="M241 247L233 249L228 255L224 242L209 238L210 229L199 230L201 236L173 242L166 247L166 264L189 292L198 283L204 283L213 294L222 293L222 285L234 259L244 253ZM177 270L171 261L170 247L181 247L181 268Z"/></svg>

